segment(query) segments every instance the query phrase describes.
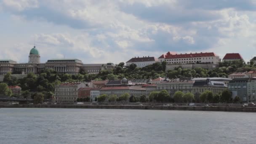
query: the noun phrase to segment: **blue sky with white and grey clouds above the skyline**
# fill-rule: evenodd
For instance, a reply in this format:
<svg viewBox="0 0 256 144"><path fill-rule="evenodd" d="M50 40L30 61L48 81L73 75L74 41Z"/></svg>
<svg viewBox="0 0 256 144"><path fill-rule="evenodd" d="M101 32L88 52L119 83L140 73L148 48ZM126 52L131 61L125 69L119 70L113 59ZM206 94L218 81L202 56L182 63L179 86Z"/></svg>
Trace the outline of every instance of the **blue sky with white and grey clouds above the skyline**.
<svg viewBox="0 0 256 144"><path fill-rule="evenodd" d="M256 0L0 0L0 59L84 64L135 56L256 56Z"/></svg>

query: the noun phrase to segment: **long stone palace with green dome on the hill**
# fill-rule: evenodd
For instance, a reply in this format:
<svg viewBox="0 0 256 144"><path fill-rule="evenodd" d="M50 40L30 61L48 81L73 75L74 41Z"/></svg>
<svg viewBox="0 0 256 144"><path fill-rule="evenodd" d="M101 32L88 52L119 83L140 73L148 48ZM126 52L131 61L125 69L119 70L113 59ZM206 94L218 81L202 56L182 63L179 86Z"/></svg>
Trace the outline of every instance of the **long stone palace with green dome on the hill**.
<svg viewBox="0 0 256 144"><path fill-rule="evenodd" d="M0 75L7 72L15 74L40 73L43 69L53 69L59 73L77 75L81 69L86 72L100 72L104 69L115 67L112 63L100 64L97 70L91 69L93 64L83 64L79 59L49 59L46 63L40 63L40 53L34 46L29 52L28 63L17 63L11 59L0 59Z"/></svg>

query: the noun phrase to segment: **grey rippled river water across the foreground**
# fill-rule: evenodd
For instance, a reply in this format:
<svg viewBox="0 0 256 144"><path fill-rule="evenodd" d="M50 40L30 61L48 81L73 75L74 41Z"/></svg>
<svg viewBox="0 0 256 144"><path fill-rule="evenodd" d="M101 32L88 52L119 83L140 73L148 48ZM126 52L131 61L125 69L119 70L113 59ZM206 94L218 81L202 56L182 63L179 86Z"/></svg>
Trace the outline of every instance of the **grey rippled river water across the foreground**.
<svg viewBox="0 0 256 144"><path fill-rule="evenodd" d="M256 144L256 114L0 108L0 144Z"/></svg>

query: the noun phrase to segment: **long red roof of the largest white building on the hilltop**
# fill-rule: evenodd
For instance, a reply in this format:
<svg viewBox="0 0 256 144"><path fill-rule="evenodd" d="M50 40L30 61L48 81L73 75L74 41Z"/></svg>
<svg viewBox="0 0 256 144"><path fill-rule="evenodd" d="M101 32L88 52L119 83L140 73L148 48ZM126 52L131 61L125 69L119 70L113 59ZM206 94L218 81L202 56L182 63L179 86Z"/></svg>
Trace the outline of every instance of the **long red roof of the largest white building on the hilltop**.
<svg viewBox="0 0 256 144"><path fill-rule="evenodd" d="M180 59L180 58L197 58L206 56L217 56L215 53L185 53L185 54L171 54L165 55L165 59Z"/></svg>

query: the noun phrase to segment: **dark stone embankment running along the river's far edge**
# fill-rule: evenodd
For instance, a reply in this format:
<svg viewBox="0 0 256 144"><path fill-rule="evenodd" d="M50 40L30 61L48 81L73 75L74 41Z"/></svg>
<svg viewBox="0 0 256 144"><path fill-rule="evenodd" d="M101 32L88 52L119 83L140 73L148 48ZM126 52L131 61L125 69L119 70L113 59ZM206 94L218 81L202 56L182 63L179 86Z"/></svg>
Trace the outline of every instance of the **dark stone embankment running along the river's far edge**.
<svg viewBox="0 0 256 144"><path fill-rule="evenodd" d="M28 105L8 104L1 108L78 108L78 109L154 109L154 110L190 110L223 112L256 112L256 107L216 107L216 106L144 106L144 105Z"/></svg>

